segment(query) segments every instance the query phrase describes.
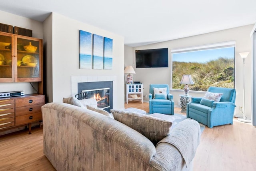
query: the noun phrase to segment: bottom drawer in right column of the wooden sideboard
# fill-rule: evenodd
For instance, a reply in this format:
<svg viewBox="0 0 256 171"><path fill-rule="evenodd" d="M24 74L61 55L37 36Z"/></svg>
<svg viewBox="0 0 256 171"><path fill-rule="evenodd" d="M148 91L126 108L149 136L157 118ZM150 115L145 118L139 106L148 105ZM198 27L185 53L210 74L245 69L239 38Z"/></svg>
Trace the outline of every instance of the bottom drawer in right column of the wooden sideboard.
<svg viewBox="0 0 256 171"><path fill-rule="evenodd" d="M42 113L31 113L27 115L16 116L16 125L23 125L42 120Z"/></svg>

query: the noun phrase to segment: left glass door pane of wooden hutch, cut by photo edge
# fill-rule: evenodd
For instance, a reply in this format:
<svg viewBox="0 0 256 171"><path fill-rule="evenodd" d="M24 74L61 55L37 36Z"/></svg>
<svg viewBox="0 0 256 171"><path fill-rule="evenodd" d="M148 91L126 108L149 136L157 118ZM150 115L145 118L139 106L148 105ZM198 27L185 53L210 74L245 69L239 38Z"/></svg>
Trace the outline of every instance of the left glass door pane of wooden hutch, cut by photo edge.
<svg viewBox="0 0 256 171"><path fill-rule="evenodd" d="M0 35L0 79L9 82L14 81L12 52L12 36Z"/></svg>

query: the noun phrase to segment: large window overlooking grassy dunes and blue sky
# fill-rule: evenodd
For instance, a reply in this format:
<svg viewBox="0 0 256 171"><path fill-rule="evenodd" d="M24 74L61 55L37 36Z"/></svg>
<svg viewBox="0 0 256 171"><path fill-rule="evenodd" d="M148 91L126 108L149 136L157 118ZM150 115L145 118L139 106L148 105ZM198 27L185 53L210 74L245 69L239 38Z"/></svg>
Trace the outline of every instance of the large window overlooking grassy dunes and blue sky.
<svg viewBox="0 0 256 171"><path fill-rule="evenodd" d="M190 74L194 83L190 90L207 91L208 87L234 88L234 42L172 50L172 89L183 89L183 74Z"/></svg>

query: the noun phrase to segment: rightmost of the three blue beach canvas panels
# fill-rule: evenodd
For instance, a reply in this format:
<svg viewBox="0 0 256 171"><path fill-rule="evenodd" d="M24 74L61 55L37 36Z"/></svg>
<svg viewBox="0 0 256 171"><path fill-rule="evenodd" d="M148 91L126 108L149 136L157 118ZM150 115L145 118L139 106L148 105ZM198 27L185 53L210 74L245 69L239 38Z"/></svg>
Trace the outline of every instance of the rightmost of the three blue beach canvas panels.
<svg viewBox="0 0 256 171"><path fill-rule="evenodd" d="M113 40L104 38L104 70L112 70L113 63Z"/></svg>

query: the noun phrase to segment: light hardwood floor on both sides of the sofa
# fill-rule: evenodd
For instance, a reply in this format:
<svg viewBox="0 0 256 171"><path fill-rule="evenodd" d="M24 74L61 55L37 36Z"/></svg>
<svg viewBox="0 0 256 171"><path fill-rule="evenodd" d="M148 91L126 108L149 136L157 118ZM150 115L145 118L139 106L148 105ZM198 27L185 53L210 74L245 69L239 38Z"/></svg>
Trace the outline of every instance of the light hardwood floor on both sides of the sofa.
<svg viewBox="0 0 256 171"><path fill-rule="evenodd" d="M149 111L148 103L130 101L125 108ZM175 107L174 113L180 113ZM184 114L184 113L180 113ZM233 125L206 127L194 158L194 171L254 171L256 127L234 119ZM0 171L54 171L43 154L42 128L0 136Z"/></svg>

